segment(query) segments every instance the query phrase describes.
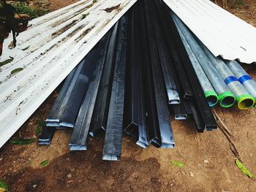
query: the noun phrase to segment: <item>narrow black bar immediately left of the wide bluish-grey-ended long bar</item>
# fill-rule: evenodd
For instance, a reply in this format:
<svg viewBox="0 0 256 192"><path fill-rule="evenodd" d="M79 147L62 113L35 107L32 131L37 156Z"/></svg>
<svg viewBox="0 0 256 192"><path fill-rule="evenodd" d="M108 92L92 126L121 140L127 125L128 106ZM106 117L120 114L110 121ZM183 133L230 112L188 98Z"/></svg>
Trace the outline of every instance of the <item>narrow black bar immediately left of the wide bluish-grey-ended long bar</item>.
<svg viewBox="0 0 256 192"><path fill-rule="evenodd" d="M143 3L143 1L139 1ZM151 58L148 45L148 29L146 27L146 12L144 4L140 6L140 42L141 42L141 64L143 65L143 82L146 100L146 126L148 130L148 141L155 147L161 147L161 135L158 126L156 99L154 96L154 85L151 69Z"/></svg>

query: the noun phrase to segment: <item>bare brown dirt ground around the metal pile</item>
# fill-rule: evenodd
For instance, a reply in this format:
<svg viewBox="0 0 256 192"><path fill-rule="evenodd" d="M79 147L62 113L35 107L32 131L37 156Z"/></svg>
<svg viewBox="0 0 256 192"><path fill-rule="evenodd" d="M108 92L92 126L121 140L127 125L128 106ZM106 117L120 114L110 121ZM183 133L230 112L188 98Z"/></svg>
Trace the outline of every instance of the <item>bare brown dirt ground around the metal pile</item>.
<svg viewBox="0 0 256 192"><path fill-rule="evenodd" d="M55 0L52 9L72 1ZM58 3L58 5L57 5ZM228 9L256 26L256 2ZM245 69L256 80L255 66ZM35 137L37 120L44 120L56 99L52 93L11 139ZM256 174L255 109L216 108L233 134L244 165ZM104 135L89 140L89 150L70 152L71 132L57 131L50 146L37 143L18 146L7 142L0 149L0 179L10 191L256 191L256 181L243 174L220 129L197 134L192 121L171 122L176 147L144 150L135 139L124 136L121 161L102 161ZM48 166L40 162L50 159ZM173 166L170 161L184 162Z"/></svg>

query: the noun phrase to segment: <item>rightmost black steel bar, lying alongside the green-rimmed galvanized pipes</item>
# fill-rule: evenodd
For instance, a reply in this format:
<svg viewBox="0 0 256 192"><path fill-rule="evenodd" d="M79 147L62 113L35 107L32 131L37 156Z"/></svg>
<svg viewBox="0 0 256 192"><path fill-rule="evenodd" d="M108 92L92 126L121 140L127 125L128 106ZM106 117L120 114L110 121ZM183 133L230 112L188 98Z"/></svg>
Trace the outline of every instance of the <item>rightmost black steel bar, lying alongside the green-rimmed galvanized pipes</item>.
<svg viewBox="0 0 256 192"><path fill-rule="evenodd" d="M168 9L167 7L165 7L165 14L170 15L170 9ZM210 107L208 106L208 102L206 101L206 97L204 96L204 93L203 93L203 88L200 86L200 82L195 73L195 69L193 68L189 60L187 52L181 41L181 37L179 37L174 20L170 18L169 23L174 34L174 39L176 39L178 50L181 53L181 55L183 55L182 58L184 59L184 62L183 62L184 69L186 69L187 71L189 81L192 82L191 86L192 86L193 93L195 95L195 109L197 110L197 114L199 117L198 119L200 119L200 122L203 125L198 128L203 128L203 129L206 128L206 130L217 128L217 122L214 119L214 115L212 114Z"/></svg>

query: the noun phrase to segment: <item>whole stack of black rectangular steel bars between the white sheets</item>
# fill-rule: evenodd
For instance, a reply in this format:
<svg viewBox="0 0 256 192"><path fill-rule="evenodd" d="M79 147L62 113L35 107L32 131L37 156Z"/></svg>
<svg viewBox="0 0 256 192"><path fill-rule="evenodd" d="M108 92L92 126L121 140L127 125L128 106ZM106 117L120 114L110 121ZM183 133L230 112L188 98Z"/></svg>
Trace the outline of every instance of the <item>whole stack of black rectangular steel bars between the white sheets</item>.
<svg viewBox="0 0 256 192"><path fill-rule="evenodd" d="M72 128L70 150L105 131L104 160L121 158L123 131L141 147L171 148L170 112L193 118L198 132L217 128L170 9L138 1L69 74L39 144Z"/></svg>

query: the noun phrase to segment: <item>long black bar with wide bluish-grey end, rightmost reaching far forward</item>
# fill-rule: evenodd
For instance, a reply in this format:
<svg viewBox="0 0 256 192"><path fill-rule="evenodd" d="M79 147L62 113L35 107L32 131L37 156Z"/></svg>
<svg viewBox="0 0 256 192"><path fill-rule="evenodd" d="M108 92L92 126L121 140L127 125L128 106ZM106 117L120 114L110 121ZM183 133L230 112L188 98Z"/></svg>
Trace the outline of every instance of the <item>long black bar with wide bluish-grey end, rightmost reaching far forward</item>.
<svg viewBox="0 0 256 192"><path fill-rule="evenodd" d="M174 147L173 130L170 126L170 114L167 107L167 98L165 94L164 78L162 75L161 64L159 61L159 54L157 51L157 39L154 34L154 27L152 23L155 22L154 7L151 1L144 0L144 5L146 9L146 26L148 31L148 45L151 56L151 72L153 77L153 88L154 88L154 99L152 103L155 102L155 110L157 115L157 128L160 130L161 136L161 147ZM161 45L159 46L161 47Z"/></svg>

